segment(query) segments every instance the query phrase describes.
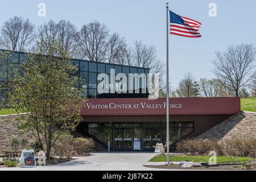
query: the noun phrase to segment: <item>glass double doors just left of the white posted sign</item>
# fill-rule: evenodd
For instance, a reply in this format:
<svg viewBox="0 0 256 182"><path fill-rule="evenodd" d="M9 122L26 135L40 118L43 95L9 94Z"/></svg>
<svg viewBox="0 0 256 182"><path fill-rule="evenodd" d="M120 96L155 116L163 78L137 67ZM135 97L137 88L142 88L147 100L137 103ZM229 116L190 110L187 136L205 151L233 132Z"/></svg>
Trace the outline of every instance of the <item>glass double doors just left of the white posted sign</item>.
<svg viewBox="0 0 256 182"><path fill-rule="evenodd" d="M114 129L114 150L131 151L133 149L133 129Z"/></svg>

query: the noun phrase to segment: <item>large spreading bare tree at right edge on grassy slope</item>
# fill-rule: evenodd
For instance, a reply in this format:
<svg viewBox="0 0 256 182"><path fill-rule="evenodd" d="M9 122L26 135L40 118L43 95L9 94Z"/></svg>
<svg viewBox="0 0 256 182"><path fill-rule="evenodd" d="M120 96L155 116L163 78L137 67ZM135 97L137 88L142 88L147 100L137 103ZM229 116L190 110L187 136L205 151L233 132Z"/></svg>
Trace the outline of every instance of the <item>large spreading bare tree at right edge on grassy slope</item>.
<svg viewBox="0 0 256 182"><path fill-rule="evenodd" d="M214 73L222 82L229 85L238 97L240 88L247 86L256 76L255 48L252 44L229 46L226 52L217 52L212 61Z"/></svg>

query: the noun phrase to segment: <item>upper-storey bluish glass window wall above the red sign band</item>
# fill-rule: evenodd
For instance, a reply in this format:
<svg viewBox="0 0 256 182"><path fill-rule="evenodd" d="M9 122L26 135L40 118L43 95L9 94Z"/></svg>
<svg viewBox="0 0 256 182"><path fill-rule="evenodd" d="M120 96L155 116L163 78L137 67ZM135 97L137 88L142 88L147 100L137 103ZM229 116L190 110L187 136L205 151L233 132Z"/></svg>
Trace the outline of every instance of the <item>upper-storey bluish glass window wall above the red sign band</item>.
<svg viewBox="0 0 256 182"><path fill-rule="evenodd" d="M19 65L22 64L26 60L26 53L24 52L10 52L9 56L6 57L6 63L8 65ZM129 93L129 73L149 73L149 69L147 68L137 68L137 67L129 67L126 65L118 65L118 64L109 64L109 63L96 63L93 61L87 60L78 60L72 59L72 64L75 65L78 69L77 76L82 79L82 87L85 89L85 96L88 98L143 98L148 97L148 89L146 89L146 93L142 92L142 80L139 78L140 87L139 93ZM5 72L4 68L0 68L0 72ZM111 69L113 71L111 72ZM101 80L97 80L97 77L100 73L106 73L109 76L109 84L104 85L105 88L108 89L109 93L98 93L97 85L101 82ZM125 73L127 76L127 85L119 86L118 82L121 80L115 80L110 82L110 76L116 76L118 73ZM8 78L11 77L11 72L7 72L6 77L1 77L1 81L8 81ZM147 79L146 79L147 80ZM118 87L119 86L119 87ZM145 86L146 87L146 86ZM115 90L117 88L126 89L126 93L117 93ZM1 96L0 96L1 97Z"/></svg>

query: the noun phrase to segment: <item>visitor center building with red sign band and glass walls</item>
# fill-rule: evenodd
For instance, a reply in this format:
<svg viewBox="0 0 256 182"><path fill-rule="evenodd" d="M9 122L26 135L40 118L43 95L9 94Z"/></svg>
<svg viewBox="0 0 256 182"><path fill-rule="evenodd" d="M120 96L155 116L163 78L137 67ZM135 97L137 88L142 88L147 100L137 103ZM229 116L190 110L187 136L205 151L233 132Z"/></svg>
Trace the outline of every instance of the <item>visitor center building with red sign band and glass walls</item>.
<svg viewBox="0 0 256 182"><path fill-rule="evenodd" d="M11 52L9 64L22 64L24 52ZM166 143L166 98L148 99L147 93L98 93L100 73L145 73L147 68L72 59L84 81L88 100L75 135L93 138L96 151L154 151ZM114 72L111 70L114 69ZM140 81L139 79L137 81ZM110 81L111 82L111 81ZM116 84L116 83L115 83ZM141 84L139 84L141 86ZM146 85L148 87L148 85ZM111 88L111 86L110 86ZM170 98L170 144L194 138L240 111L240 98Z"/></svg>

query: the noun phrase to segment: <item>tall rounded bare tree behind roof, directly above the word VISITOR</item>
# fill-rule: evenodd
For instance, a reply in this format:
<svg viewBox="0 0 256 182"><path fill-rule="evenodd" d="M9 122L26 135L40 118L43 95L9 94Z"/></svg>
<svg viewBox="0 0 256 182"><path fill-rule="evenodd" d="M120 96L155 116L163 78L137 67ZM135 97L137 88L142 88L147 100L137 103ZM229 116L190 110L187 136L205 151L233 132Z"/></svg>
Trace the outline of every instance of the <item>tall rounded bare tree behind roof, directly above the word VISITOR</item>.
<svg viewBox="0 0 256 182"><path fill-rule="evenodd" d="M106 60L109 30L105 24L94 21L82 26L80 38L80 48L87 59L98 62Z"/></svg>

